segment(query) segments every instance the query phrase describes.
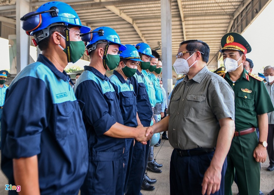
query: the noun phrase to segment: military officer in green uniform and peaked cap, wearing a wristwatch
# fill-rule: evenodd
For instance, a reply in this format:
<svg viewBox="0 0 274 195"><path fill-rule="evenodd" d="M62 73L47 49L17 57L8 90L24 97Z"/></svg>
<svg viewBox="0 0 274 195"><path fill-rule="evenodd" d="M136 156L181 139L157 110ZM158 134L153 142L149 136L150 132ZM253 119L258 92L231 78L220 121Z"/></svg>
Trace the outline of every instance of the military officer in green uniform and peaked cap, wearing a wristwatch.
<svg viewBox="0 0 274 195"><path fill-rule="evenodd" d="M256 77L243 68L246 54L251 46L240 34L227 33L221 40L224 79L235 93L235 134L227 154L225 195L232 195L231 185L235 170L239 194L259 194L259 163L266 160L267 113L274 110L261 77ZM258 140L256 127L259 127Z"/></svg>

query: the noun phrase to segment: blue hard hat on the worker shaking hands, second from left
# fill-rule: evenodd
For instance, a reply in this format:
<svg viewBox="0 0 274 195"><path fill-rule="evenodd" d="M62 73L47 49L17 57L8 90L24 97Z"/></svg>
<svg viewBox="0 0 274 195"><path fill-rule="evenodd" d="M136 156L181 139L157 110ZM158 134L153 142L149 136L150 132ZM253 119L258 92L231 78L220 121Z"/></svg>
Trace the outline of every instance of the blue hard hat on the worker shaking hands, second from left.
<svg viewBox="0 0 274 195"><path fill-rule="evenodd" d="M118 45L119 51L125 51L126 46L121 44L119 35L114 29L102 26L94 29L93 31L100 31L101 33L93 33L92 39L86 43L86 48L89 52L96 49L96 45L98 43L109 43L112 45Z"/></svg>

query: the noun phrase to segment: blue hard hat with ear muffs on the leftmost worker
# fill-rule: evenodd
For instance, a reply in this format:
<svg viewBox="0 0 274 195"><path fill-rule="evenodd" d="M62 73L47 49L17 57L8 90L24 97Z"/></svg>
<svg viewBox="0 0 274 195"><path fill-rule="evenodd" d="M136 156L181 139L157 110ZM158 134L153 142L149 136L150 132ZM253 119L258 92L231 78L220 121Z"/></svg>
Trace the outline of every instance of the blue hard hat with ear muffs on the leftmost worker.
<svg viewBox="0 0 274 195"><path fill-rule="evenodd" d="M45 12L49 10L52 11ZM82 25L79 16L70 5L59 1L47 2L41 5L36 12L27 13L21 18L21 27L28 35L55 25L77 26L81 33L90 31L90 27Z"/></svg>

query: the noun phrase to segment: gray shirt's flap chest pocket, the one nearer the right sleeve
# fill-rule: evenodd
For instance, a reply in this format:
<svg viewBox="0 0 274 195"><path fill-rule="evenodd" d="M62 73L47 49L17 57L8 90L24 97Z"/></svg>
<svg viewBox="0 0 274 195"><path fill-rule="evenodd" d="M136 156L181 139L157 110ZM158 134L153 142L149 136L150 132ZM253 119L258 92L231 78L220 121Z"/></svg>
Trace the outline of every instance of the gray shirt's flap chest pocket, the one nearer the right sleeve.
<svg viewBox="0 0 274 195"><path fill-rule="evenodd" d="M183 107L183 116L201 118L204 115L206 97L203 95L188 95Z"/></svg>

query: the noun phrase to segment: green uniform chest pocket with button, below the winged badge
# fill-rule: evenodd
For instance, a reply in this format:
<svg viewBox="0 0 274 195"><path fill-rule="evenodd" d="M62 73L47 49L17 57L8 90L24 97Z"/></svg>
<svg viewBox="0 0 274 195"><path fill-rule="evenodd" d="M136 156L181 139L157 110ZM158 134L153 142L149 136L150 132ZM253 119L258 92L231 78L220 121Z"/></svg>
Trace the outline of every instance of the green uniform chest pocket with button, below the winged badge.
<svg viewBox="0 0 274 195"><path fill-rule="evenodd" d="M254 93L239 91L236 101L236 107L244 110L252 110L254 107Z"/></svg>

